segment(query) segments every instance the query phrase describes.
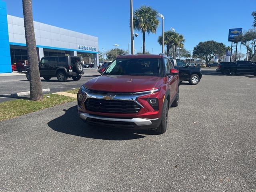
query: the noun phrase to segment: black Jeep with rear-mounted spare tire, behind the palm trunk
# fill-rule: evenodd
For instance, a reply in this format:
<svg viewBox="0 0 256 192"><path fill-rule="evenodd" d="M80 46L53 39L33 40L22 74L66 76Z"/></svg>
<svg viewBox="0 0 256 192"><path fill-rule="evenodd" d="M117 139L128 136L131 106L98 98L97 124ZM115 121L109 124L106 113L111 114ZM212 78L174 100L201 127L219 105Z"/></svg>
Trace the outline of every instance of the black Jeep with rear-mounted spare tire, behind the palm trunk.
<svg viewBox="0 0 256 192"><path fill-rule="evenodd" d="M83 70L83 64L80 62L80 57L77 56L43 57L39 62L40 77L45 80L57 77L59 82L66 82L71 77L78 81L84 74ZM30 80L29 68L25 74L27 79Z"/></svg>

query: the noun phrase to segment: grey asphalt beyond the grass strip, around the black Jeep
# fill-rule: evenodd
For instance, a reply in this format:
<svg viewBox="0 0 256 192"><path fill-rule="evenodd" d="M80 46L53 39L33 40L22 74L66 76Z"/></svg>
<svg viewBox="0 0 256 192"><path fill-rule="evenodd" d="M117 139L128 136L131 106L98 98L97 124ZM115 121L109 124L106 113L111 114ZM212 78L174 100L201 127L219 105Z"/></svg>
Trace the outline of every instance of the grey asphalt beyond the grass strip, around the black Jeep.
<svg viewBox="0 0 256 192"><path fill-rule="evenodd" d="M99 76L96 69L84 69L84 75L79 81L68 78L67 82L58 82L57 78L51 78L49 81L41 78L42 89L50 88L50 93L70 90L80 87L91 78ZM17 75L16 75L17 74ZM23 74L23 75L22 75ZM24 73L14 73L12 76L0 76L0 102L14 99L10 94L29 91L29 81ZM27 96L29 97L29 95Z"/></svg>

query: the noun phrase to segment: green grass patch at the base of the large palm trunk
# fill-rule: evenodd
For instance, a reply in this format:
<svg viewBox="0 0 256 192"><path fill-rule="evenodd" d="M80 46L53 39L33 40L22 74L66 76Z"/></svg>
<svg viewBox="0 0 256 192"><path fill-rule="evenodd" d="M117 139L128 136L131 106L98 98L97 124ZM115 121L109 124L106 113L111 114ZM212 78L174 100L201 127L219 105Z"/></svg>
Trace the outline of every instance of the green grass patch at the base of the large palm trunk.
<svg viewBox="0 0 256 192"><path fill-rule="evenodd" d="M50 98L47 98L47 96L50 96ZM46 94L42 101L16 99L2 102L0 103L0 121L71 101L76 101L76 98L58 94Z"/></svg>

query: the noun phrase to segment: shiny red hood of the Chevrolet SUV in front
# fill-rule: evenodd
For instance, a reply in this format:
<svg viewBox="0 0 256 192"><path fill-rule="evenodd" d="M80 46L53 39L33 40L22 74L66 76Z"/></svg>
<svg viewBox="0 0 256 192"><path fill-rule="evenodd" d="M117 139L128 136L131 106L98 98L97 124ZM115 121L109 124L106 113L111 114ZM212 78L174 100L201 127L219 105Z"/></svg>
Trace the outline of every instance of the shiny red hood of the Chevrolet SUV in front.
<svg viewBox="0 0 256 192"><path fill-rule="evenodd" d="M99 76L86 82L84 87L106 92L140 92L159 88L163 79L152 76Z"/></svg>

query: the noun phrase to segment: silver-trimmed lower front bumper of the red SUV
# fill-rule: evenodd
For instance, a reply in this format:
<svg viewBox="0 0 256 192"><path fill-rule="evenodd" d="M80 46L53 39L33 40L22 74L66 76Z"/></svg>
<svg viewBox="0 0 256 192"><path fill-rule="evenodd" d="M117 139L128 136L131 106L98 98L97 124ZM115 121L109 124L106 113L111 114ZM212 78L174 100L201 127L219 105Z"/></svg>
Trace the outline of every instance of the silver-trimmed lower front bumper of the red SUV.
<svg viewBox="0 0 256 192"><path fill-rule="evenodd" d="M160 118L113 118L88 113L80 113L79 116L84 122L93 126L153 130L160 125Z"/></svg>

